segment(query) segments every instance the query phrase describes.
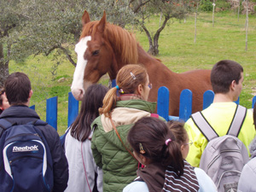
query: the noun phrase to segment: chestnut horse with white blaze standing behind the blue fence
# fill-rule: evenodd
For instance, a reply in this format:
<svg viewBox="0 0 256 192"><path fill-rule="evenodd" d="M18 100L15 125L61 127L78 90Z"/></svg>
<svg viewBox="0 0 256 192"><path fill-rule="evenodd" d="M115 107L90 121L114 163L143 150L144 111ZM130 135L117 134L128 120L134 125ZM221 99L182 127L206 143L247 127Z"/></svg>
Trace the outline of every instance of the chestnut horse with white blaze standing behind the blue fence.
<svg viewBox="0 0 256 192"><path fill-rule="evenodd" d="M148 102L156 102L158 89L166 86L170 90L170 115L178 116L179 96L184 89L193 93L192 113L202 109L204 92L212 90L211 70L173 73L160 60L148 55L133 33L108 23L105 12L101 20L90 21L90 15L84 10L82 25L79 43L75 45L78 61L71 86L77 100L81 100L84 91L90 84L96 84L102 75L108 73L112 80L116 78L121 67L142 64L146 67L149 81L153 85Z"/></svg>

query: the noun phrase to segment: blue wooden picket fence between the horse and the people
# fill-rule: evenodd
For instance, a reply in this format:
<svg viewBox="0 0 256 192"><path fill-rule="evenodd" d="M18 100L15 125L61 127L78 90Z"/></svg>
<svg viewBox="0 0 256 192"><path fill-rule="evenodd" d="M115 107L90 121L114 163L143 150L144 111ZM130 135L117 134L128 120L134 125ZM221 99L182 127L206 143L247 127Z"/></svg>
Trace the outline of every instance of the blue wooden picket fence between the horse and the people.
<svg viewBox="0 0 256 192"><path fill-rule="evenodd" d="M203 109L211 105L213 101L214 93L212 90L207 90L203 96ZM256 102L256 96L253 97L252 108ZM57 130L57 103L58 97L52 97L46 101L46 122L49 125L52 125ZM236 101L239 104L239 98ZM35 109L35 106L30 108ZM77 101L71 92L68 93L68 114L67 114L67 127L70 126L74 119L78 116L79 113L79 101ZM158 90L157 98L157 113L169 120L183 120L186 121L189 119L190 114L192 113L192 92L191 90L183 90L180 95L180 108L179 116L169 116L169 90L166 87L160 87Z"/></svg>

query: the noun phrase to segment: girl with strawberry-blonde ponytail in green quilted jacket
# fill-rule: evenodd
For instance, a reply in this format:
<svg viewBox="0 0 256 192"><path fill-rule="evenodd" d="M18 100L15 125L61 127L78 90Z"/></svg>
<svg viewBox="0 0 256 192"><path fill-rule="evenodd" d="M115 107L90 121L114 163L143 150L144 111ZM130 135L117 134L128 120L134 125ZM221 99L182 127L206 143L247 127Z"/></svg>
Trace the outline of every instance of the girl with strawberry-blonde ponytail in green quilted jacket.
<svg viewBox="0 0 256 192"><path fill-rule="evenodd" d="M116 83L103 99L101 116L91 125L94 129L91 149L96 165L103 170L104 192L122 191L136 177L138 163L126 137L131 125L150 116L156 105L147 102L152 85L145 67L137 64L122 67Z"/></svg>

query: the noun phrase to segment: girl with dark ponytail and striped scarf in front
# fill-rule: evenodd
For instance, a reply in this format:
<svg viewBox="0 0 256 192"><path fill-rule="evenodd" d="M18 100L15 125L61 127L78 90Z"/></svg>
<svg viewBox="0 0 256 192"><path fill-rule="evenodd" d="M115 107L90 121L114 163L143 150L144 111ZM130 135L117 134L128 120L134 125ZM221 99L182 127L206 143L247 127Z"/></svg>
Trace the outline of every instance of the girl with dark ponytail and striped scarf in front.
<svg viewBox="0 0 256 192"><path fill-rule="evenodd" d="M198 177L194 168L183 159L185 154L164 121L154 117L139 119L129 131L127 140L133 154L145 167L137 170L138 177L123 192L217 191L211 179L202 177L206 173L200 172L201 177Z"/></svg>

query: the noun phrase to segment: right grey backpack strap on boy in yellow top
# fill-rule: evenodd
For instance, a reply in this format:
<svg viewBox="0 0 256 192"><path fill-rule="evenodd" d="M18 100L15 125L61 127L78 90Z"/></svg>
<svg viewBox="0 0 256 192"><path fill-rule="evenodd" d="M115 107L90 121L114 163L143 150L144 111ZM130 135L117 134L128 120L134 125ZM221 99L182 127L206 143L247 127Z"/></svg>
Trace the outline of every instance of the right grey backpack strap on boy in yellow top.
<svg viewBox="0 0 256 192"><path fill-rule="evenodd" d="M229 131L227 135L238 137L239 132L241 131L241 125L243 124L244 119L247 116L247 108L237 105L234 118L230 124Z"/></svg>

